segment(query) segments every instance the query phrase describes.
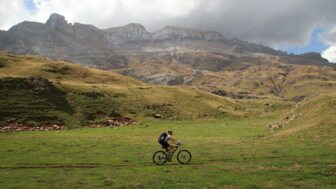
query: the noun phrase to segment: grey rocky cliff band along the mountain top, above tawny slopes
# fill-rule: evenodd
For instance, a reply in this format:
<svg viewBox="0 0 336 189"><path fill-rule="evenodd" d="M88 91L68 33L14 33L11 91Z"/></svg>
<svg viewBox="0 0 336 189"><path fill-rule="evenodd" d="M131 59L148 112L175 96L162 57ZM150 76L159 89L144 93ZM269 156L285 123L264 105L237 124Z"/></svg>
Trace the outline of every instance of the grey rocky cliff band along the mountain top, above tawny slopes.
<svg viewBox="0 0 336 189"><path fill-rule="evenodd" d="M215 31L167 26L150 33L141 24L98 29L92 25L68 23L64 16L52 14L45 24L22 22L0 32L0 49L11 53L38 54L56 59L110 68L126 67L130 54L151 52L190 52L246 55L265 53L287 56L286 53L239 39L227 39ZM126 57L125 57L126 56ZM304 56L303 58L310 58ZM317 62L326 61L322 58Z"/></svg>

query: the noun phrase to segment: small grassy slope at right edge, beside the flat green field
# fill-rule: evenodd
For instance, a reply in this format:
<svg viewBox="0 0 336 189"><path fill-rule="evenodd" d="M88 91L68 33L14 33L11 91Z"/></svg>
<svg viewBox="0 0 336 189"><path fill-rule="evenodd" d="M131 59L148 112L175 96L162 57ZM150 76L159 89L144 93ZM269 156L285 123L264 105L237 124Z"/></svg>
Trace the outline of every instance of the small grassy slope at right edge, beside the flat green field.
<svg viewBox="0 0 336 189"><path fill-rule="evenodd" d="M336 93L322 93L307 97L275 125L273 139L287 137L328 139L335 143ZM326 141L325 141L326 142Z"/></svg>

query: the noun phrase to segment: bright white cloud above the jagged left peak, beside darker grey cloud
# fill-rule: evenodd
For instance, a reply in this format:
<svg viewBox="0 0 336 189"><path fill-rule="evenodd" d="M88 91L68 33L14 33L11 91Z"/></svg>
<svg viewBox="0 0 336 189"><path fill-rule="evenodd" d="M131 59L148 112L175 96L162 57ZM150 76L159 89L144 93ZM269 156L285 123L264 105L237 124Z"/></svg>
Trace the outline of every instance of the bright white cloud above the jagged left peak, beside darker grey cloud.
<svg viewBox="0 0 336 189"><path fill-rule="evenodd" d="M59 13L69 22L88 23L100 28L139 22L178 19L190 15L200 0L34 0L37 11L32 20L45 22L49 15Z"/></svg>

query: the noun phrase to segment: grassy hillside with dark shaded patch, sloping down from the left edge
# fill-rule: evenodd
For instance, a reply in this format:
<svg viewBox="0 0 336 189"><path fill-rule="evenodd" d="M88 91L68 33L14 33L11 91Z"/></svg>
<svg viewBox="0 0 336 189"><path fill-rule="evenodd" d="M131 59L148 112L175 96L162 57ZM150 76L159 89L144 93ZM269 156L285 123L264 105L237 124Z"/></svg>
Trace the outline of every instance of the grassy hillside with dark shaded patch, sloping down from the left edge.
<svg viewBox="0 0 336 189"><path fill-rule="evenodd" d="M148 85L109 71L36 56L0 54L0 122L104 122L134 119L245 115L241 103L188 87Z"/></svg>

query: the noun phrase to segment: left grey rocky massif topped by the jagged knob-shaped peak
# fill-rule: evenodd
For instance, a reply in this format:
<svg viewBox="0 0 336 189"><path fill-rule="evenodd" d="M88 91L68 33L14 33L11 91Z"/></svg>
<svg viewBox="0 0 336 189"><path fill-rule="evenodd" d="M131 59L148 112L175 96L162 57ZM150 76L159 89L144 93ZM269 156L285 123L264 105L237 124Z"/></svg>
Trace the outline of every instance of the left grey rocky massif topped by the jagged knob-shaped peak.
<svg viewBox="0 0 336 189"><path fill-rule="evenodd" d="M124 67L121 56L106 45L102 32L85 24L69 24L52 14L46 24L24 21L2 33L0 49L15 54L37 54L84 65L114 62Z"/></svg>

